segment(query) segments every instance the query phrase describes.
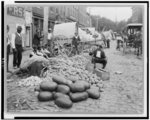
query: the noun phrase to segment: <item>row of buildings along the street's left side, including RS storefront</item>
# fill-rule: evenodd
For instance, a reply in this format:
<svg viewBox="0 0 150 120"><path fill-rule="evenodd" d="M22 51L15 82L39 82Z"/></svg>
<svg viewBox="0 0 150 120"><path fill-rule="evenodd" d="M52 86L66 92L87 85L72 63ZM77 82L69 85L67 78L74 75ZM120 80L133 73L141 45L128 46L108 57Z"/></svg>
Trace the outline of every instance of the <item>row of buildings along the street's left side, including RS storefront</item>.
<svg viewBox="0 0 150 120"><path fill-rule="evenodd" d="M43 32L44 7L7 6L6 24L10 26L10 33L16 32L16 26L23 28L22 36L25 47L32 47L32 40L37 29ZM91 17L86 6L53 5L49 6L48 28L57 23L78 22L80 27L90 27Z"/></svg>

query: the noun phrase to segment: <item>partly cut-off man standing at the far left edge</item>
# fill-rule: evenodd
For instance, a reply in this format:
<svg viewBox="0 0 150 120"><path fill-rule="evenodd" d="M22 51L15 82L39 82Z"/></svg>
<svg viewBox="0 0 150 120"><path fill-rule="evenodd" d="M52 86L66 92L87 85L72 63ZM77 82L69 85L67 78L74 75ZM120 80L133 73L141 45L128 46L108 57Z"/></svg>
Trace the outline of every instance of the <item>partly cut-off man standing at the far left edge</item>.
<svg viewBox="0 0 150 120"><path fill-rule="evenodd" d="M9 26L7 25L7 72L9 72L9 54L10 54L10 34L9 34Z"/></svg>

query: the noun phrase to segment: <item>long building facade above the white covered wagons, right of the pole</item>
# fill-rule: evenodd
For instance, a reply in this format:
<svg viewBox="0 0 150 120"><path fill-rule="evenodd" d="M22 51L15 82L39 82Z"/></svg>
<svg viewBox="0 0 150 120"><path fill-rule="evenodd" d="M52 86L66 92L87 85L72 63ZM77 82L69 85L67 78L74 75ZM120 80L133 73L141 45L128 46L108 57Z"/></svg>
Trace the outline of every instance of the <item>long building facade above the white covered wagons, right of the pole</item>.
<svg viewBox="0 0 150 120"><path fill-rule="evenodd" d="M91 26L91 17L86 11L86 6L50 6L50 11L56 14L56 21L58 23L78 22L81 27Z"/></svg>

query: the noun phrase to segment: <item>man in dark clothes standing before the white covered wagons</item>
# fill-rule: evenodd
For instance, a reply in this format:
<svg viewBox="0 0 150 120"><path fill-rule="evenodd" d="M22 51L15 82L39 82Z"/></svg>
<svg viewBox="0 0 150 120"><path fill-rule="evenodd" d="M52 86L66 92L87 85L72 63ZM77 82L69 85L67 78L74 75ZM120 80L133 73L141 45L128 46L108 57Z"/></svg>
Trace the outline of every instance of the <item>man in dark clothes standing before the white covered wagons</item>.
<svg viewBox="0 0 150 120"><path fill-rule="evenodd" d="M80 43L80 37L78 36L78 33L75 33L75 36L72 39L72 45L75 49L75 54L76 53L79 54L79 50L78 50L79 43Z"/></svg>

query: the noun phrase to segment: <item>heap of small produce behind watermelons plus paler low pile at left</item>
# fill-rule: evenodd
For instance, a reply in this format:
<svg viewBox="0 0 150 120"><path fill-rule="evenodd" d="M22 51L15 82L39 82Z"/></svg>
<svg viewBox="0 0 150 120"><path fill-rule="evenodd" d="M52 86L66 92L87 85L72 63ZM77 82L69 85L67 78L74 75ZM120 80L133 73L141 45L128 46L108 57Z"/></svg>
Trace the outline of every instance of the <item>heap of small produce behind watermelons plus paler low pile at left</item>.
<svg viewBox="0 0 150 120"><path fill-rule="evenodd" d="M59 82L64 85L69 85L75 81L86 81L90 85L93 84L100 88L103 87L101 78L86 70L88 62L89 60L87 60L86 56L83 55L76 55L71 58L68 58L67 56L57 56L49 60L49 66L45 73L45 78L31 76L26 79L21 79L17 82L17 84L18 86L36 86L42 81L52 81L53 78L55 82ZM62 80L63 77L66 78L67 81L66 79Z"/></svg>

